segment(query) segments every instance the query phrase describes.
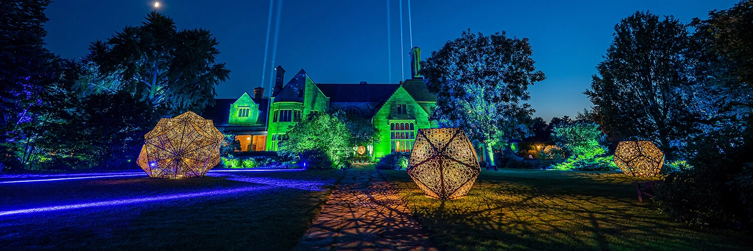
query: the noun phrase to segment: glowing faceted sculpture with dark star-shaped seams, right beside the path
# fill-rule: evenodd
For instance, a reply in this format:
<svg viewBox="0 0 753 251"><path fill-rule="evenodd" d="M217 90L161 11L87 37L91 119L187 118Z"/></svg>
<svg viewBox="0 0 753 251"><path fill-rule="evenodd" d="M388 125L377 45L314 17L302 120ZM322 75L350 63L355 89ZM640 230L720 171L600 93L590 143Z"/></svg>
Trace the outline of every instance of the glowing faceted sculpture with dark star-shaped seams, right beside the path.
<svg viewBox="0 0 753 251"><path fill-rule="evenodd" d="M440 200L463 197L480 172L476 151L463 130L419 129L407 173L428 197Z"/></svg>

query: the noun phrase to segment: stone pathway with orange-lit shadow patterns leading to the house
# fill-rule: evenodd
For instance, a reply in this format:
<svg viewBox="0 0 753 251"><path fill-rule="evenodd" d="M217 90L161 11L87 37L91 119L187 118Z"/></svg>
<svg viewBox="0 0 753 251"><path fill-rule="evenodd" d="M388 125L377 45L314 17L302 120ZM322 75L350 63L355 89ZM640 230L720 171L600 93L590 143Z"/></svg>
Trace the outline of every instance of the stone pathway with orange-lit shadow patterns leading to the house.
<svg viewBox="0 0 753 251"><path fill-rule="evenodd" d="M348 170L299 250L436 250L403 200L373 166Z"/></svg>

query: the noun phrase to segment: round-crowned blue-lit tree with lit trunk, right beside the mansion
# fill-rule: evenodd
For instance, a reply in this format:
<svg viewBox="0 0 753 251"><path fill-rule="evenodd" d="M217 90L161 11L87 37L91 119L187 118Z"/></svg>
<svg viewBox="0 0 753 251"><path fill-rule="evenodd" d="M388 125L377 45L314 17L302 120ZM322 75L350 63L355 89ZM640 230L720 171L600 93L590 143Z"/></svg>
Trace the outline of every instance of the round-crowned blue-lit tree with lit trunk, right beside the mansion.
<svg viewBox="0 0 753 251"><path fill-rule="evenodd" d="M529 99L529 84L545 78L532 53L528 38L508 38L505 32L485 36L468 29L447 41L421 65L420 74L438 97L431 118L483 142L489 164L495 166L495 145L530 135L535 111L520 101Z"/></svg>

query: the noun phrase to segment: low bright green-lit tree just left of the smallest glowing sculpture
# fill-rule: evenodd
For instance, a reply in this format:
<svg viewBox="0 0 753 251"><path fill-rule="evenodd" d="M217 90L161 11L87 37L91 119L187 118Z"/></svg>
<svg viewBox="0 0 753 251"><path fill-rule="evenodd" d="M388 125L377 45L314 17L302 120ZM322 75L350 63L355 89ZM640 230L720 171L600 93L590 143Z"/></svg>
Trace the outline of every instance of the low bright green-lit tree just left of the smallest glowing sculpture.
<svg viewBox="0 0 753 251"><path fill-rule="evenodd" d="M607 148L603 145L606 139L599 124L589 122L575 122L572 124L558 124L551 136L557 147L562 148L570 157L554 167L560 170L614 170L616 167L608 157L604 156ZM559 154L559 152L556 152Z"/></svg>

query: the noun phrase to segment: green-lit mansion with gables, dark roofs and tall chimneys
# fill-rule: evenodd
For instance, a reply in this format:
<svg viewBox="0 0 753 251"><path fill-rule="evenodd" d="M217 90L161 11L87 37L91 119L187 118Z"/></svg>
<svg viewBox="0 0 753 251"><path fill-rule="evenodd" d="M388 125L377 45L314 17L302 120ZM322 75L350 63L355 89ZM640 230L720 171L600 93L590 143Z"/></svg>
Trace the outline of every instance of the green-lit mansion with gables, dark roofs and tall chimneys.
<svg viewBox="0 0 753 251"><path fill-rule="evenodd" d="M437 97L417 74L420 53L418 47L411 50L412 78L400 84L318 84L301 69L283 85L285 69L278 66L270 97L262 97L264 89L258 87L254 97L243 93L238 99L217 99L217 105L204 112L205 118L236 134L247 145L243 151L277 151L285 133L306 115L343 110L370 119L380 130L380 143L353 145L364 146L364 155L382 158L391 152L410 152L419 129L437 127L428 119ZM227 112L222 112L223 107ZM217 120L220 114L227 114L227 123Z"/></svg>

